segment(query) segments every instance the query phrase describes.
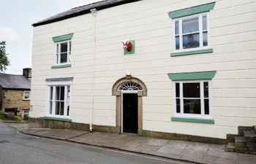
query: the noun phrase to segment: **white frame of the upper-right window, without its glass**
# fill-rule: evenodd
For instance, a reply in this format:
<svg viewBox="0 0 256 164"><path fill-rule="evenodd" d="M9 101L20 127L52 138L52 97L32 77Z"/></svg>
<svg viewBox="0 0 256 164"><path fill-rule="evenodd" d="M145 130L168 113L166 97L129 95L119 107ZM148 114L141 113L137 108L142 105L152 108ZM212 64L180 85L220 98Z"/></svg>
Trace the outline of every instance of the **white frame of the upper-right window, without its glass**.
<svg viewBox="0 0 256 164"><path fill-rule="evenodd" d="M206 15L206 21L207 21L207 46L203 46L203 15ZM183 49L183 37L182 35L182 20L187 20L189 18L193 17L199 17L199 47L195 48L189 48L189 49ZM175 22L178 20L178 36L179 36L179 50L176 50L176 26ZM209 49L211 48L211 42L210 42L210 12L203 12L196 15L189 15L187 17L178 17L176 19L173 19L173 52L186 52L186 51L192 51L192 50L203 50L203 49Z"/></svg>

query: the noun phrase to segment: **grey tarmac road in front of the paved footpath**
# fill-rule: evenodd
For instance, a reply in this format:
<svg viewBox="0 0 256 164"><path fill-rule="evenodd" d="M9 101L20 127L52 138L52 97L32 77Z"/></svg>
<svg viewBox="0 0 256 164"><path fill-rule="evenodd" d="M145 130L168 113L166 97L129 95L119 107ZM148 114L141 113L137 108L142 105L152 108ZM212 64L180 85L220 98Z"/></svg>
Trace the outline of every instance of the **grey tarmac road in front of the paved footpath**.
<svg viewBox="0 0 256 164"><path fill-rule="evenodd" d="M0 164L187 164L165 158L26 136L0 122Z"/></svg>

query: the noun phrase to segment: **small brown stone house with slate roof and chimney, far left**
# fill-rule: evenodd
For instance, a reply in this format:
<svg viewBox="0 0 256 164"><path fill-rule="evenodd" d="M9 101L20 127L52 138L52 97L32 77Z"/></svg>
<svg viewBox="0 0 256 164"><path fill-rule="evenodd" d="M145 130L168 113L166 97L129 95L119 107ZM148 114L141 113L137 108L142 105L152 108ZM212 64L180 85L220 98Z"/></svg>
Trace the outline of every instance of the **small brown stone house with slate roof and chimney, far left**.
<svg viewBox="0 0 256 164"><path fill-rule="evenodd" d="M30 109L31 69L23 69L23 75L0 74L0 109L27 117Z"/></svg>

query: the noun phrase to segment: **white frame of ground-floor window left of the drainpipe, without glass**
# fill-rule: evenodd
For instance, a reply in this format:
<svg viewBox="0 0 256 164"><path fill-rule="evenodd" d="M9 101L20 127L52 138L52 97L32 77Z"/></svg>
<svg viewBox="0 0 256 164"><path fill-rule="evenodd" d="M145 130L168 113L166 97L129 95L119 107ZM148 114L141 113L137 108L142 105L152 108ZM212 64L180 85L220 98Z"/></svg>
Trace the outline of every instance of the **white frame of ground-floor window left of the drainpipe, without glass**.
<svg viewBox="0 0 256 164"><path fill-rule="evenodd" d="M56 115L55 114L55 104L56 101L53 99L52 103L52 114L50 114L50 87L53 87L53 98L55 98L56 87L65 87L64 90L64 115ZM69 95L67 95L67 87L69 86ZM68 100L69 98L69 100ZM70 82L48 82L47 84L47 95L46 95L46 106L45 106L45 116L47 117L56 117L56 118L70 118L70 105L71 105L71 84ZM69 104L69 115L67 116L67 106Z"/></svg>

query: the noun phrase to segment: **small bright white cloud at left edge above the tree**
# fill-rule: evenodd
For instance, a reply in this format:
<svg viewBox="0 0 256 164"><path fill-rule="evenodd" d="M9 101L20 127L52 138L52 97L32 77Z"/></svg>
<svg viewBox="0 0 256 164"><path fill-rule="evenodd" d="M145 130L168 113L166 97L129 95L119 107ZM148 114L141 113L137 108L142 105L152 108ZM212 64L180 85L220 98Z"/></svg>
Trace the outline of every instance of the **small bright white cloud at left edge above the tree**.
<svg viewBox="0 0 256 164"><path fill-rule="evenodd" d="M20 37L12 27L0 26L0 41L15 42Z"/></svg>

